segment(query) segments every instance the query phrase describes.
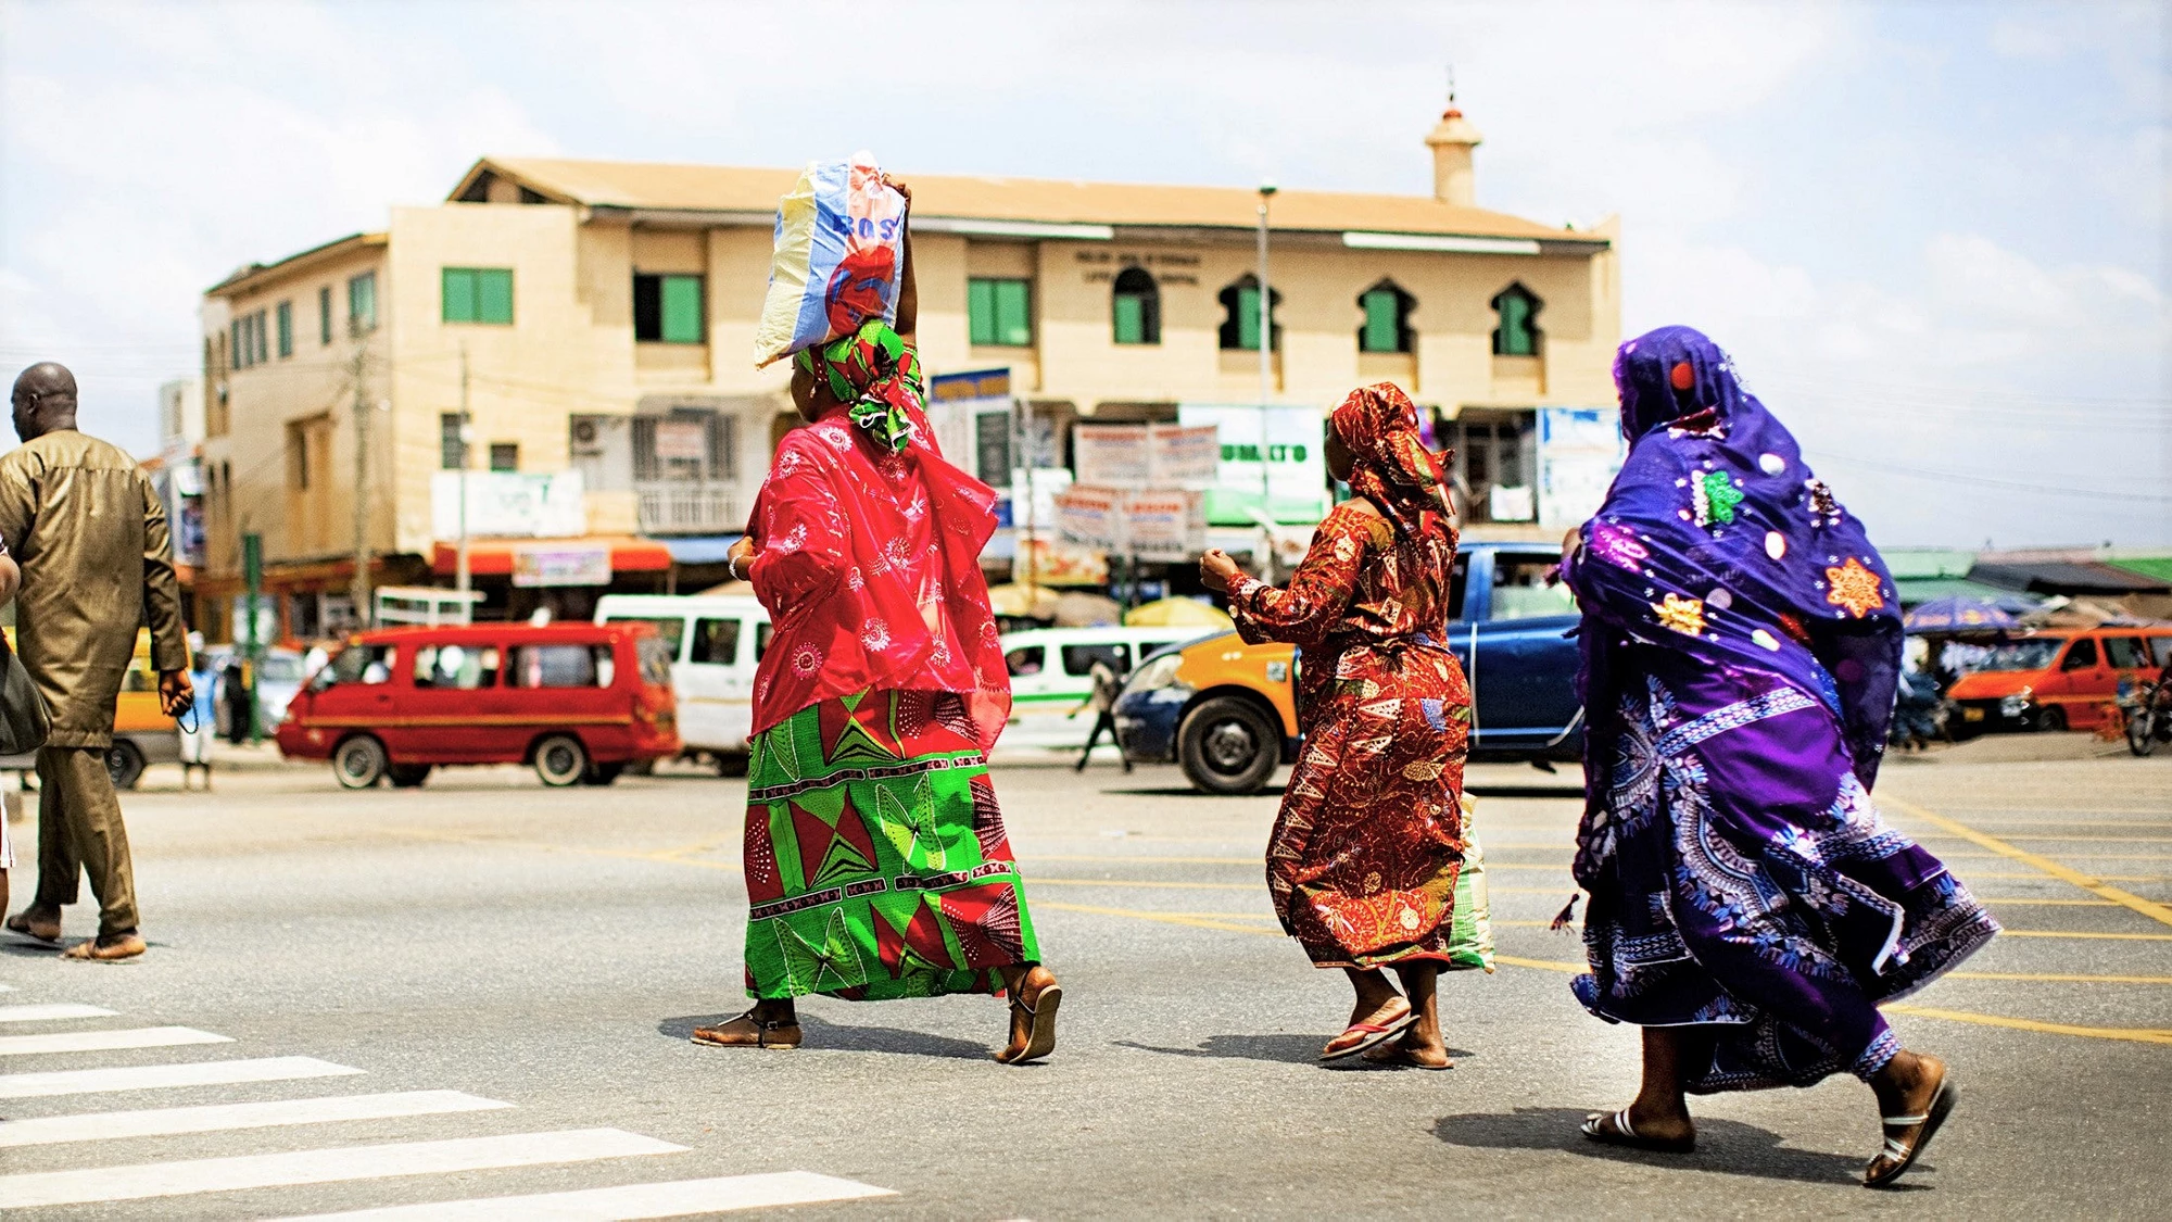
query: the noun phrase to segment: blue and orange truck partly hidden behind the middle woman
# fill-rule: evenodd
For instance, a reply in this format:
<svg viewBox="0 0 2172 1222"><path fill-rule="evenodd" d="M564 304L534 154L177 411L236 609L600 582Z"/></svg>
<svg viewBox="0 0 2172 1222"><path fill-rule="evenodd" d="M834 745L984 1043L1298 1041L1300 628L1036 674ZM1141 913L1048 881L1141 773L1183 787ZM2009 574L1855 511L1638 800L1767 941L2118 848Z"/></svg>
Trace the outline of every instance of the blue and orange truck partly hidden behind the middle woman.
<svg viewBox="0 0 2172 1222"><path fill-rule="evenodd" d="M1583 759L1577 702L1577 607L1546 570L1544 544L1466 541L1455 557L1449 648L1473 694L1470 759ZM1116 741L1136 763L1184 765L1208 794L1253 794L1297 757L1297 668L1290 646L1247 646L1221 633L1138 665L1116 700Z"/></svg>

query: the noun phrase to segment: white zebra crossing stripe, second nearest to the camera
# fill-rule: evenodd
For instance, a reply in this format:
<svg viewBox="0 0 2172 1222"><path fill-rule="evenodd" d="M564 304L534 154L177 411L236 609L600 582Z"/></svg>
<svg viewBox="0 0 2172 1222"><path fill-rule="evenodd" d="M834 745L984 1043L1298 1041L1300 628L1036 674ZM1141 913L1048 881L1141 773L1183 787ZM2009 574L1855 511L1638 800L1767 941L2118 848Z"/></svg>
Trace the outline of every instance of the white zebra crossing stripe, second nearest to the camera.
<svg viewBox="0 0 2172 1222"><path fill-rule="evenodd" d="M341 1146L237 1159L189 1159L72 1172L28 1172L0 1176L0 1211L43 1205L91 1205L143 1200L191 1192L237 1192L298 1183L339 1183L389 1176L432 1176L541 1163L584 1163L634 1155L678 1155L673 1146L623 1129L571 1129L560 1133L510 1133L504 1137L456 1137L450 1142L393 1142L384 1146Z"/></svg>

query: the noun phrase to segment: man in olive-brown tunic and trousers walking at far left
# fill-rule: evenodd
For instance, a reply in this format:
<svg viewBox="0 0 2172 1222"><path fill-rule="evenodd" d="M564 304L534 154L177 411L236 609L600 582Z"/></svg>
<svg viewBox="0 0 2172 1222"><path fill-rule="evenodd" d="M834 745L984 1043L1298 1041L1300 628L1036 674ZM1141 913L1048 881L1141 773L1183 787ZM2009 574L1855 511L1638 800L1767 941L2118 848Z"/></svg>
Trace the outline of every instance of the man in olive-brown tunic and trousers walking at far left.
<svg viewBox="0 0 2172 1222"><path fill-rule="evenodd" d="M106 748L139 626L150 626L161 707L178 715L191 696L165 504L135 459L76 431L65 367L24 370L13 407L22 446L0 457L0 539L22 565L15 644L52 704L52 737L37 752L37 898L7 928L59 942L61 909L89 870L98 937L65 957L135 959L135 870Z"/></svg>

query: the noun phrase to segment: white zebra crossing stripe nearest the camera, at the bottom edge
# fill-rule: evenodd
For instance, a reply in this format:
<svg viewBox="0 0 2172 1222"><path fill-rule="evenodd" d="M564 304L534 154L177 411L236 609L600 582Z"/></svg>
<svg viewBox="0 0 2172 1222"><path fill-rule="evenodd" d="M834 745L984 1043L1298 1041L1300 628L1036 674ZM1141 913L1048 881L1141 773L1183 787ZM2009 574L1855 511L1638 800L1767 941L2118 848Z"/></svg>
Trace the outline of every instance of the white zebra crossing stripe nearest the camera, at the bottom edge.
<svg viewBox="0 0 2172 1222"><path fill-rule="evenodd" d="M489 1196L478 1200L439 1200L430 1205L395 1205L391 1209L356 1209L350 1213L315 1213L287 1222L621 1222L634 1218L682 1218L686 1213L723 1213L728 1209L775 1209L812 1205L817 1200L858 1200L862 1196L897 1196L886 1187L815 1172L773 1172L756 1176L686 1179L671 1183L630 1183L623 1187L591 1187L586 1192L545 1192L536 1196Z"/></svg>

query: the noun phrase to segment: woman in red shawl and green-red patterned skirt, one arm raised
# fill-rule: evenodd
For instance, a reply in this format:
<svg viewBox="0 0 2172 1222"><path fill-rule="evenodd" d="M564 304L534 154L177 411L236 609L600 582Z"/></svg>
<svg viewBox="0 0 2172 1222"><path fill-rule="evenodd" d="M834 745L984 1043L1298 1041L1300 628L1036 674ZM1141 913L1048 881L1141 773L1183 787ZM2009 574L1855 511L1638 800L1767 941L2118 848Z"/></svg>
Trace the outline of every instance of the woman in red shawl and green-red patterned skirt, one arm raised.
<svg viewBox="0 0 2172 1222"><path fill-rule="evenodd" d="M910 191L897 185L910 207ZM778 444L732 576L769 607L747 768L747 994L697 1044L797 1048L793 998L1010 994L1008 1065L1056 1048L1062 989L988 783L1010 672L980 550L995 489L943 461L912 348L904 248L897 331L793 359L808 420Z"/></svg>

